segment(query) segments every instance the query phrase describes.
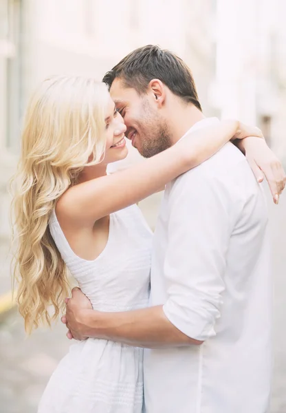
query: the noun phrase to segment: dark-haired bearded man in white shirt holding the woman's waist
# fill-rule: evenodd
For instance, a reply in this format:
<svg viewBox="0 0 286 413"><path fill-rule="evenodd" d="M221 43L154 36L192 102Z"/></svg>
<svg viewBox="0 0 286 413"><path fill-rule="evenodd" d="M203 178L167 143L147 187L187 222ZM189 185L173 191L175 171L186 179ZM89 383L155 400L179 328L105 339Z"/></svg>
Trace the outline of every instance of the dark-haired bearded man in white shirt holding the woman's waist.
<svg viewBox="0 0 286 413"><path fill-rule="evenodd" d="M218 122L203 116L184 62L157 46L135 50L104 81L126 136L143 156L170 147L190 128ZM267 412L272 287L266 227L263 189L229 143L166 186L150 308L97 313L75 290L63 318L69 337L148 348L147 413Z"/></svg>

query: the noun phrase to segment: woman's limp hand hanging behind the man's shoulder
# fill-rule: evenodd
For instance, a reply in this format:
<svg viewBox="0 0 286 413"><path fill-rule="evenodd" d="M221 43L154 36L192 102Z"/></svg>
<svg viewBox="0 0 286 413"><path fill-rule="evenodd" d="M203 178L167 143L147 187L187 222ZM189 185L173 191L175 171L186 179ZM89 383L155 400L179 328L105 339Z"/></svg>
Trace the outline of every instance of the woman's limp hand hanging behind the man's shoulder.
<svg viewBox="0 0 286 413"><path fill-rule="evenodd" d="M278 204L279 195L281 195L286 184L286 174L281 161L267 146L264 139L257 139L254 136L241 140L239 149L245 153L245 157L258 182L262 182L265 176L274 203Z"/></svg>

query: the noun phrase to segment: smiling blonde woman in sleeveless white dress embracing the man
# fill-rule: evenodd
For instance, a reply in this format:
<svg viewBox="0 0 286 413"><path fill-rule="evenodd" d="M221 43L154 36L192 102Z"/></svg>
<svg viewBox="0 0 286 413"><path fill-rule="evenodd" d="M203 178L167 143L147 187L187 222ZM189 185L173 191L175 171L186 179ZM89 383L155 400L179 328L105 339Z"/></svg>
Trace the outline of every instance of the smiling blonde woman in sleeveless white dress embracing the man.
<svg viewBox="0 0 286 413"><path fill-rule="evenodd" d="M107 176L107 165L127 154L107 87L81 77L44 81L28 107L14 178L14 275L25 329L58 317L69 273L97 310L147 306L152 234L135 203L243 137L239 126L229 120L195 131ZM140 413L142 394L142 349L87 339L59 364L39 413Z"/></svg>

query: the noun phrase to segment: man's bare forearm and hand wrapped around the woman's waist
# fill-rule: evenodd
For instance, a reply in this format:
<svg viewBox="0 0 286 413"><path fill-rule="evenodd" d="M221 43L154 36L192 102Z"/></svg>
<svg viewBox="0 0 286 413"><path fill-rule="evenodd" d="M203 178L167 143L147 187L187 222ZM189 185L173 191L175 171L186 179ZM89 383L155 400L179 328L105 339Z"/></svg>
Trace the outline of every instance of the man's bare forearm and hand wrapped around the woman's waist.
<svg viewBox="0 0 286 413"><path fill-rule="evenodd" d="M202 343L184 335L173 326L164 315L162 306L122 313L100 313L79 308L78 294L83 293L73 292L77 303L72 301L72 298L67 304L67 327L72 331L69 338L94 337L144 348L190 346L190 344ZM74 313L76 313L76 320Z"/></svg>

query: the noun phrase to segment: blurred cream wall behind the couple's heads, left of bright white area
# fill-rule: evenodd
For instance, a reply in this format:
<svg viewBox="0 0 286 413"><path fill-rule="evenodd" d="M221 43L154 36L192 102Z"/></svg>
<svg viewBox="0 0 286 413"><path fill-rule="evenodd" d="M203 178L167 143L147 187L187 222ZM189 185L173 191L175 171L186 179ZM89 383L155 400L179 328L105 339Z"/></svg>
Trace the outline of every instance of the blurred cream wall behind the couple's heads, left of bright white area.
<svg viewBox="0 0 286 413"><path fill-rule="evenodd" d="M51 74L99 80L148 43L181 56L206 114L214 78L212 0L0 0L0 237L9 236L5 186L17 162L21 119L34 86ZM133 152L134 154L134 152Z"/></svg>

